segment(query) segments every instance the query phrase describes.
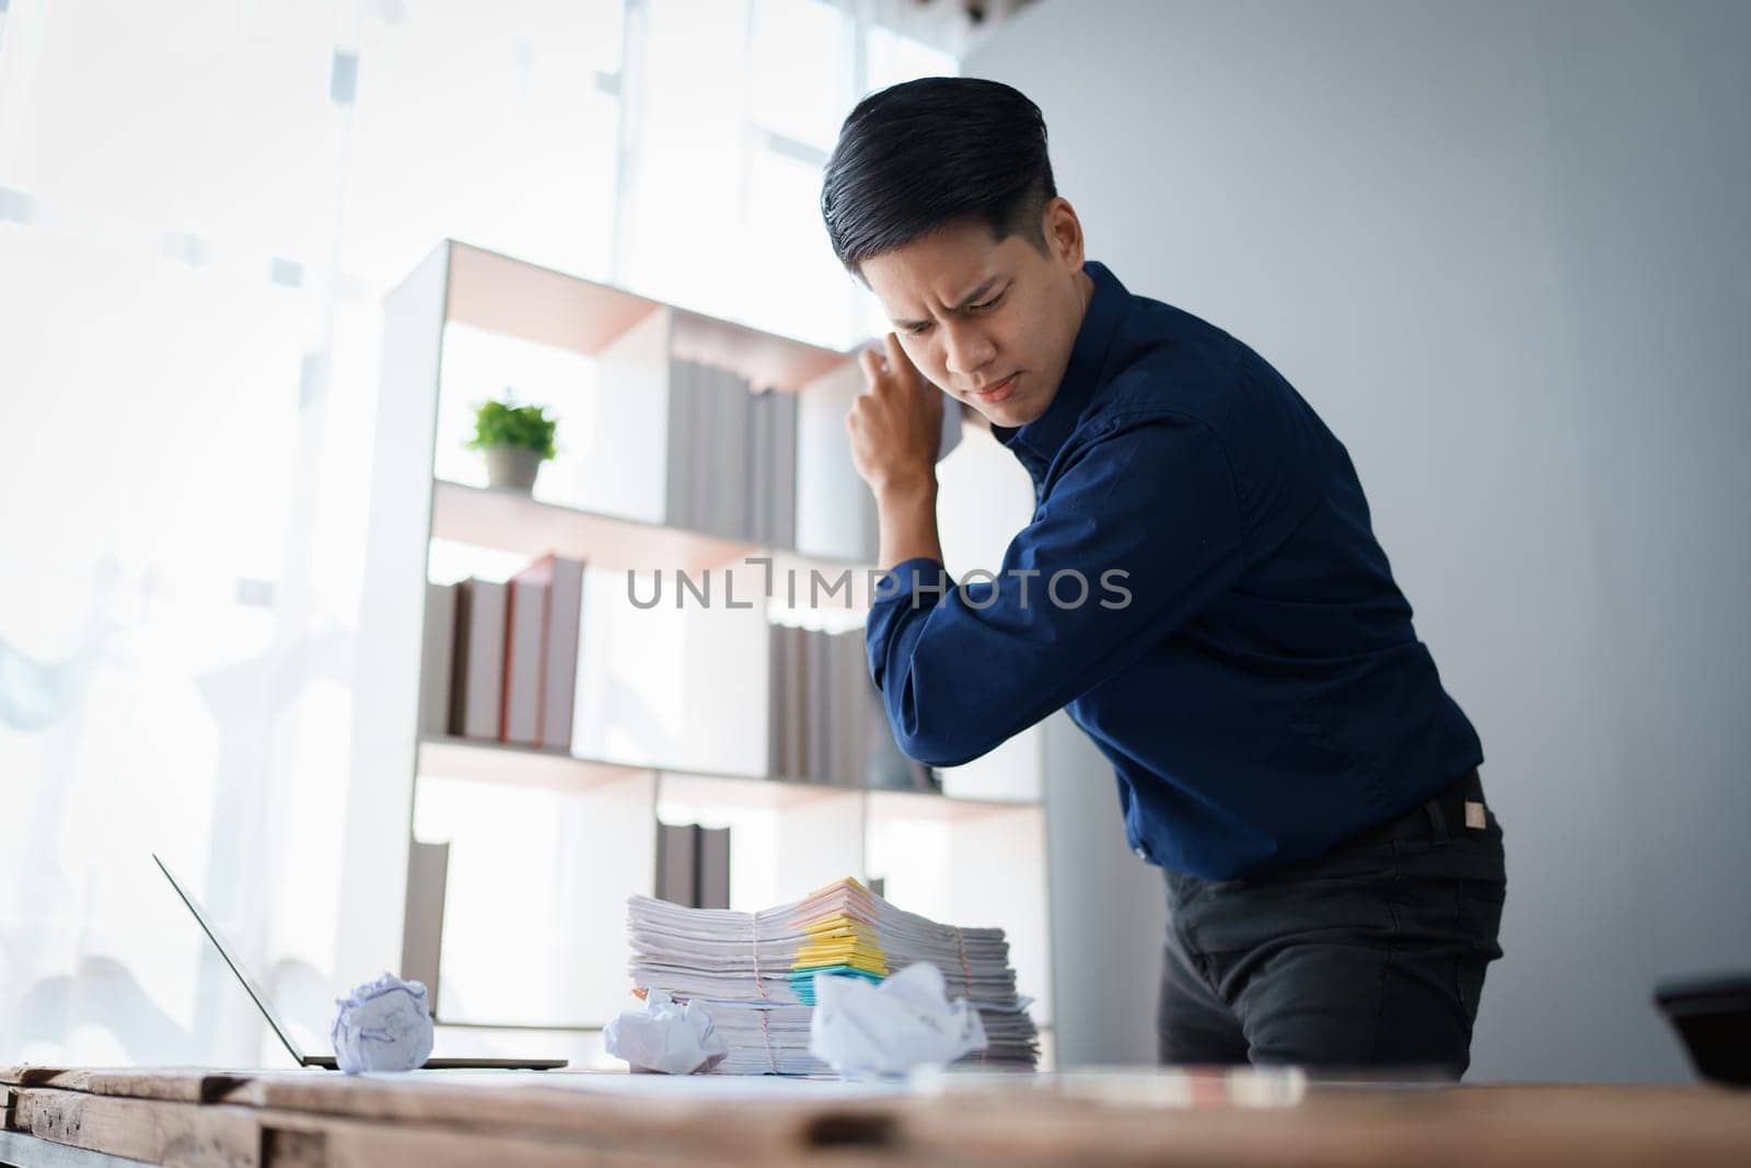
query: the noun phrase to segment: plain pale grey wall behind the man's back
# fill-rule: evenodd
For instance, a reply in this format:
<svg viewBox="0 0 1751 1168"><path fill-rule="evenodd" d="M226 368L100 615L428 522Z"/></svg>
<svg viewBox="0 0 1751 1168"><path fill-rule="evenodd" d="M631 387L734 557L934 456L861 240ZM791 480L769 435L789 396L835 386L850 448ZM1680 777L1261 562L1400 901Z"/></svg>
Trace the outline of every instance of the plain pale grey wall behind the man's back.
<svg viewBox="0 0 1751 1168"><path fill-rule="evenodd" d="M1350 447L1508 837L1476 1079L1683 1077L1653 981L1751 967L1747 58L1742 4L1045 0L965 65Z"/></svg>

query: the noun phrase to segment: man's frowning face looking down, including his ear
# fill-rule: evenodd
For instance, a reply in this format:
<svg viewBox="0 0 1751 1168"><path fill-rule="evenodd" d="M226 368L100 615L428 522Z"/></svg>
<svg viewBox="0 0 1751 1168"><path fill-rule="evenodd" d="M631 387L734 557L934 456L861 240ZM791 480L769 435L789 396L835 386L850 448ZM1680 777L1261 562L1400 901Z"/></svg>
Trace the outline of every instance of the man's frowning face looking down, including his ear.
<svg viewBox="0 0 1751 1168"><path fill-rule="evenodd" d="M918 371L998 426L1052 405L1093 292L1082 228L1061 198L1045 207L1044 254L961 221L865 259L861 273Z"/></svg>

